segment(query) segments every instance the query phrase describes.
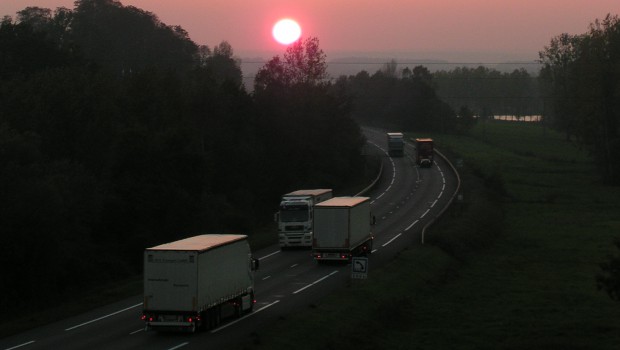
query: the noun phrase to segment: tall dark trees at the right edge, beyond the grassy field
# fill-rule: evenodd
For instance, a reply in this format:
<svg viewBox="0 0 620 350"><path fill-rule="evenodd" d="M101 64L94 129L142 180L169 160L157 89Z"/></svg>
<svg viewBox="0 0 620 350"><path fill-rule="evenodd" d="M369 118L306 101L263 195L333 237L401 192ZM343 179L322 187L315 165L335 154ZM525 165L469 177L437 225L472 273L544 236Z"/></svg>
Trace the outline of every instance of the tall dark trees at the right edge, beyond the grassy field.
<svg viewBox="0 0 620 350"><path fill-rule="evenodd" d="M545 120L591 150L607 183L620 184L620 19L560 34L539 56Z"/></svg>

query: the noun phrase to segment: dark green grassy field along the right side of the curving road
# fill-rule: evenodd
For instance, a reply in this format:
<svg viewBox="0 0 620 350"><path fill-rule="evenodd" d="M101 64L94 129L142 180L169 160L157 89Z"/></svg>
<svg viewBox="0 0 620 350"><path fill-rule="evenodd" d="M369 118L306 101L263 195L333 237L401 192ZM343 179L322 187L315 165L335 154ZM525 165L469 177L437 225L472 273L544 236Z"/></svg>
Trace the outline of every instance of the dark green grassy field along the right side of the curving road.
<svg viewBox="0 0 620 350"><path fill-rule="evenodd" d="M620 189L540 125L432 136L463 159L465 201L430 244L283 316L244 348L618 349L620 303L595 276L616 253Z"/></svg>

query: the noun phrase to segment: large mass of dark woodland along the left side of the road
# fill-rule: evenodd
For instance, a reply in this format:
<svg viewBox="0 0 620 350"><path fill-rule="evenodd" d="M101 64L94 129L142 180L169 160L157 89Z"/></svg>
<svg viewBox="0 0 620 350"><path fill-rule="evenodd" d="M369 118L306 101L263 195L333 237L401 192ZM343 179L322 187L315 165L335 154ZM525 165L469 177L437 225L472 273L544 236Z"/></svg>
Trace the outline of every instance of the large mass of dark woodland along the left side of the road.
<svg viewBox="0 0 620 350"><path fill-rule="evenodd" d="M296 51L301 61L282 60L285 74L263 74L251 94L228 43L197 45L118 1L5 16L2 313L134 276L148 246L251 235L282 193L357 180L360 128L329 84L290 69L318 58L324 74L318 40Z"/></svg>

